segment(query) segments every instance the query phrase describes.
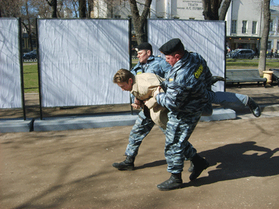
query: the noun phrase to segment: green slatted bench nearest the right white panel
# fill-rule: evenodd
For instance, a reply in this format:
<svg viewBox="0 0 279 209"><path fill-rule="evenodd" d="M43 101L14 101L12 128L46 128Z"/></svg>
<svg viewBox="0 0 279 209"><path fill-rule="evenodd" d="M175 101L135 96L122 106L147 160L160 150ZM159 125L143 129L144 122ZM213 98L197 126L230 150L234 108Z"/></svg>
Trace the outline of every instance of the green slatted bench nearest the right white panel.
<svg viewBox="0 0 279 209"><path fill-rule="evenodd" d="M266 81L266 78L259 76L257 69L226 70L226 84L257 82L259 85L260 82L263 82L266 86Z"/></svg>

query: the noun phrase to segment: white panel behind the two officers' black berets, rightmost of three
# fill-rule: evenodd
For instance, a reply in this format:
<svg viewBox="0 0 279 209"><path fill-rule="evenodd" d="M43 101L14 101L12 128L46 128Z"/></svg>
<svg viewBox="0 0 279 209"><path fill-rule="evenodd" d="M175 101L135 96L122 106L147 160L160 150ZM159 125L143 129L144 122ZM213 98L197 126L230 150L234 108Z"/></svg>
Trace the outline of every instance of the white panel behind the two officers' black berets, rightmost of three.
<svg viewBox="0 0 279 209"><path fill-rule="evenodd" d="M148 20L148 42L154 55L172 38L180 38L185 49L197 52L206 60L212 75L225 77L225 22L202 20ZM212 86L213 91L225 91L224 82Z"/></svg>

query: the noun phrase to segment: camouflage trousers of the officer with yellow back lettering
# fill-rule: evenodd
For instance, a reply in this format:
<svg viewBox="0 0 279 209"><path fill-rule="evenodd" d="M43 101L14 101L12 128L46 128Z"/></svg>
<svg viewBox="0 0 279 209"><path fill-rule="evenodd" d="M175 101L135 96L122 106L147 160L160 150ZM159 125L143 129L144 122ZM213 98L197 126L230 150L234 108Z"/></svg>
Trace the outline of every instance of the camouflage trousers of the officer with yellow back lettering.
<svg viewBox="0 0 279 209"><path fill-rule="evenodd" d="M188 114L177 118L171 112L168 114L167 130L165 132L165 159L169 173L181 173L184 160L190 160L197 150L188 141L195 130L201 113Z"/></svg>

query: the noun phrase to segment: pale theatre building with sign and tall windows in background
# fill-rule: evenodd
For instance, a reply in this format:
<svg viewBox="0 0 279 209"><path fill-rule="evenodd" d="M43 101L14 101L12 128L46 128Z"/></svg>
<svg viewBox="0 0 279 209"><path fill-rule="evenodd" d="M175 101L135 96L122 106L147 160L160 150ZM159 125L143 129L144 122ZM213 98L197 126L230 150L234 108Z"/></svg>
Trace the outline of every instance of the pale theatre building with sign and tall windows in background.
<svg viewBox="0 0 279 209"><path fill-rule="evenodd" d="M98 1L104 2L103 0ZM142 4L138 3L140 12L143 3L144 1L142 1ZM253 49L255 52L259 52L263 29L262 7L263 0L232 0L225 19L227 22L227 47L230 49ZM120 4L115 4L112 7L105 3L104 10L107 10L107 14L110 14L107 17L131 17L128 1L121 1ZM204 20L202 12L202 0L157 0L151 3L149 18ZM100 15L100 13L98 14ZM279 47L278 17L279 7L271 6L269 52L271 52L271 49L274 52Z"/></svg>

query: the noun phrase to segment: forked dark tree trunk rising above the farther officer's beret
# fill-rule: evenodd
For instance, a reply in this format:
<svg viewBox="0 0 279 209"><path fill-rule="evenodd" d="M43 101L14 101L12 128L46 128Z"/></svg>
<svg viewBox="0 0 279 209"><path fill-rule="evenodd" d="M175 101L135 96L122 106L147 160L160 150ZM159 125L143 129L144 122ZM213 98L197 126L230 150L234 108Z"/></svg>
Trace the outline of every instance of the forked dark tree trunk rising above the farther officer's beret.
<svg viewBox="0 0 279 209"><path fill-rule="evenodd" d="M146 41L146 33L144 31L144 26L146 22L146 18L149 15L150 5L152 0L145 0L144 10L142 11L142 15L137 8L136 0L129 0L132 20L135 27L135 36L137 38L137 44L140 45L142 42Z"/></svg>

